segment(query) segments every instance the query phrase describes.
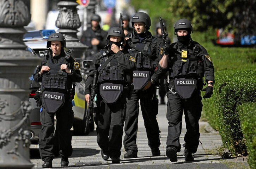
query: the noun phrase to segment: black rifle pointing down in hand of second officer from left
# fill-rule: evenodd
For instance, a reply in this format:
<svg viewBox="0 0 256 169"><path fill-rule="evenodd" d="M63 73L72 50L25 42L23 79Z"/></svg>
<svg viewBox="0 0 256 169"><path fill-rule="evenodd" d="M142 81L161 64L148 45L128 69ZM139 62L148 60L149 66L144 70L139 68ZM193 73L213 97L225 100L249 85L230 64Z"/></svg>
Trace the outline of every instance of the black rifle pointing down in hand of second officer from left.
<svg viewBox="0 0 256 169"><path fill-rule="evenodd" d="M96 94L96 87L97 87L97 82L98 82L98 75L99 72L98 70L93 70L94 76L93 76L93 83L91 87L91 94L90 94L90 101L89 101L89 107L86 111L86 124L85 124L85 132L88 131L89 124L91 122L91 117L93 114L93 107L94 107L94 97Z"/></svg>

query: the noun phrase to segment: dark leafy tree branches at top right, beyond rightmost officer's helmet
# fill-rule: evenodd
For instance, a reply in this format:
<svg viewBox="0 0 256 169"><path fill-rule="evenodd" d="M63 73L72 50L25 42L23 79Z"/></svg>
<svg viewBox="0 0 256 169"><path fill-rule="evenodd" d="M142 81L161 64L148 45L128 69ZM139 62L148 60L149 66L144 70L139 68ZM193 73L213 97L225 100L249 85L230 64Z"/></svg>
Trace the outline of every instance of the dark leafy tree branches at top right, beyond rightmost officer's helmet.
<svg viewBox="0 0 256 169"><path fill-rule="evenodd" d="M255 0L172 0L169 12L178 18L190 19L195 30L233 28L240 37L255 30Z"/></svg>

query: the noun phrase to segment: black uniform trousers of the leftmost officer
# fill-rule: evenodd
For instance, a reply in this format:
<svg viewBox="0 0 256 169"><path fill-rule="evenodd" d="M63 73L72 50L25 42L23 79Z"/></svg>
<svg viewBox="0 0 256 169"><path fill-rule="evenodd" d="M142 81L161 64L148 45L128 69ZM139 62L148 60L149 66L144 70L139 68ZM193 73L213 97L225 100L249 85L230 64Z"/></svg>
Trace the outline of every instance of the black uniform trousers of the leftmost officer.
<svg viewBox="0 0 256 169"><path fill-rule="evenodd" d="M59 140L61 157L69 157L72 155L71 145L71 128L74 121L74 112L72 110L72 103L69 99L65 99L63 106L55 113L48 113L43 109L40 112L40 121L42 128L39 133L39 152L41 159L45 161L47 158L53 160L54 152L54 115L56 114L56 136Z"/></svg>

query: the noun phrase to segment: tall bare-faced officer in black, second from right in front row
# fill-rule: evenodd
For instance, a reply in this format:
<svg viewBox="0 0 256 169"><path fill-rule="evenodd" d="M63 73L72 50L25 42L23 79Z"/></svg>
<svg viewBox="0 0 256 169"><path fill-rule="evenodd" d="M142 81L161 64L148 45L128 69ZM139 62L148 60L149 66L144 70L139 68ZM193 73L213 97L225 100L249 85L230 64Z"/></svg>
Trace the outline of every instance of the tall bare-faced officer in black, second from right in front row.
<svg viewBox="0 0 256 169"><path fill-rule="evenodd" d="M129 53L136 58L136 67L133 71L134 91L131 99L127 100L127 112L124 125L123 144L127 151L124 158L137 157L138 147L136 144L138 131L139 100L142 116L147 132L148 145L152 156L160 156L159 151L159 127L157 122L158 98L156 87L151 85L151 76L162 57L162 42L153 37L148 31L151 19L148 14L138 12L132 18L134 32L126 41Z"/></svg>

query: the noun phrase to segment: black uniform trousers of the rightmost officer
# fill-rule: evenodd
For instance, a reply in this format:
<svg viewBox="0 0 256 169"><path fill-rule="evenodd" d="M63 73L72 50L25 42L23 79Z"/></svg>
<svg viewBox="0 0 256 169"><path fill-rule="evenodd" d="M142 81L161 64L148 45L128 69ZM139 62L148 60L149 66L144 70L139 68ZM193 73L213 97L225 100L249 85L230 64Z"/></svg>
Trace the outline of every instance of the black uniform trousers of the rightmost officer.
<svg viewBox="0 0 256 169"><path fill-rule="evenodd" d="M200 90L195 91L194 95L189 99L182 99L178 93L173 94L167 92L168 103L166 118L168 120L168 135L166 147L175 146L177 151L181 151L179 136L182 129L182 115L184 112L187 132L184 137L185 144L191 153L197 151L199 145L199 119L202 111L202 97Z"/></svg>

